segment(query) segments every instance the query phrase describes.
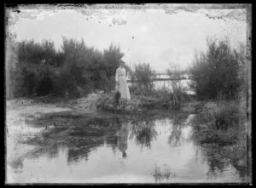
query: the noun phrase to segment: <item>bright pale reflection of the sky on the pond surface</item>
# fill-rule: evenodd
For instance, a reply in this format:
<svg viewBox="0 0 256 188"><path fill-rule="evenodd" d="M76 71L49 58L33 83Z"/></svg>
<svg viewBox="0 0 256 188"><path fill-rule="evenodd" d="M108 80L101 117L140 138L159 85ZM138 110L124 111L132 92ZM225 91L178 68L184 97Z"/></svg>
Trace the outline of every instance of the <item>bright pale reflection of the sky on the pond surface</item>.
<svg viewBox="0 0 256 188"><path fill-rule="evenodd" d="M188 119L191 116L187 117ZM171 119L155 120L154 130L157 133L151 146L141 147L130 137L131 123L123 123L119 129L118 142L127 141L123 148L127 154L122 157L122 151L113 150L108 145L97 146L91 150L87 159L77 162L67 162L67 148L59 149L55 156L47 153L40 157L25 158L20 173L14 174L17 182L147 182L154 183L155 165L160 169L167 168L175 177L168 182L211 182L211 181L239 181L234 168L228 168L223 174L209 179L207 177L208 164L201 155L201 148L190 139L192 127L184 119L182 124L172 124ZM126 127L124 127L124 125ZM138 124L139 126L139 124ZM180 145L168 144L169 136L177 130L173 126L180 126ZM120 133L121 129L126 130ZM119 137L124 137L119 138ZM81 149L83 151L83 148Z"/></svg>

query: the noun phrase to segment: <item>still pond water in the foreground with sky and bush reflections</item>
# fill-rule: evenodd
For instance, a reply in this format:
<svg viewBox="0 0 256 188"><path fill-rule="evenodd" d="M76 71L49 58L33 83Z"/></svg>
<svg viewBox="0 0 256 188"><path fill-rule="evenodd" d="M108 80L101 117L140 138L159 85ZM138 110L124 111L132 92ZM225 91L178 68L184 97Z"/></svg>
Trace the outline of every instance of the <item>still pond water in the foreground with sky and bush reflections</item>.
<svg viewBox="0 0 256 188"><path fill-rule="evenodd" d="M119 115L90 121L83 116L47 117L59 125L23 142L22 145L33 145L34 149L9 162L9 182L246 181L241 169L221 156L224 148L198 144L190 121L193 117L180 113L140 120ZM42 128L45 119L37 122L38 128Z"/></svg>

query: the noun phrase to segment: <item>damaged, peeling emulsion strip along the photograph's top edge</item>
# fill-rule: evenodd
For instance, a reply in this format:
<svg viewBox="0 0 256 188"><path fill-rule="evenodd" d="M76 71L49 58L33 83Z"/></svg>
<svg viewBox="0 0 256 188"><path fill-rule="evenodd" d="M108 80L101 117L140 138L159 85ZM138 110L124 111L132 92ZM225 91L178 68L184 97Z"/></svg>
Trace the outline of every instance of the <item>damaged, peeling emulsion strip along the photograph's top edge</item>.
<svg viewBox="0 0 256 188"><path fill-rule="evenodd" d="M17 17L44 19L46 16L57 14L60 11L73 10L84 14L86 19L92 17L101 21L107 21L109 24L115 26L122 26L127 23L122 14L135 14L137 9L163 9L166 14L178 14L181 11L191 13L205 14L209 19L223 19L223 20L246 20L245 12L246 5L232 5L232 4L101 4L101 5L20 5L17 8L8 9L15 11L11 14L15 15L15 20L9 17L13 24L18 21ZM20 13L17 13L19 10ZM216 11L218 10L218 11ZM227 11L228 10L228 11ZM112 18L110 18L112 17Z"/></svg>

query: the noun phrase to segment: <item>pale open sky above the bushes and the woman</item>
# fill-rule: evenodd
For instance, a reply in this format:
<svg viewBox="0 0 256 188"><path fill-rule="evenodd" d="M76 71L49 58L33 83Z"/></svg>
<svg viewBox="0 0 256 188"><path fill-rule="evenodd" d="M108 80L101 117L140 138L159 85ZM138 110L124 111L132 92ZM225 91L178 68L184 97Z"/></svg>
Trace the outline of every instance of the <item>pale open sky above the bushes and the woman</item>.
<svg viewBox="0 0 256 188"><path fill-rule="evenodd" d="M207 37L229 37L235 48L246 43L245 9L179 9L171 14L166 9L20 9L13 14L18 41L50 39L60 48L62 36L84 38L101 50L114 43L128 65L147 62L156 71L165 71L171 62L189 66L195 49L206 49Z"/></svg>

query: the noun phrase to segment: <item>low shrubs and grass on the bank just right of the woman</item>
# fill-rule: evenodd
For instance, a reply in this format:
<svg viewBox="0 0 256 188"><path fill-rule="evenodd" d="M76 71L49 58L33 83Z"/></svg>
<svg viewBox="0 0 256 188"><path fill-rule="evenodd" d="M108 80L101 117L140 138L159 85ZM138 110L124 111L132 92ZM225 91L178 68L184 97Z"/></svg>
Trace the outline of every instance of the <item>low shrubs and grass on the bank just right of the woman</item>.
<svg viewBox="0 0 256 188"><path fill-rule="evenodd" d="M186 89L182 86L179 78L182 70L167 69L169 78L172 78L170 87L164 84L161 88L155 88L154 79L156 72L147 63L137 64L135 71L131 72L131 93L142 100L144 106L154 108L166 108L177 110L181 108L183 100L186 99Z"/></svg>

